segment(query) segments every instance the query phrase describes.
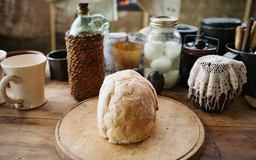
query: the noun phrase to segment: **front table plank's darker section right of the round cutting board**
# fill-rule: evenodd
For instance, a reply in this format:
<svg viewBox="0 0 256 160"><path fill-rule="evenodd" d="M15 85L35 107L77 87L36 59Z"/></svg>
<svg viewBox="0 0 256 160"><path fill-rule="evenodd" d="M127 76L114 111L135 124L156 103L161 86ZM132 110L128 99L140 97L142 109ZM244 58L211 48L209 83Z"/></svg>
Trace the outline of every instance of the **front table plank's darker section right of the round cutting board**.
<svg viewBox="0 0 256 160"><path fill-rule="evenodd" d="M205 148L200 160L255 160L255 127L204 126Z"/></svg>

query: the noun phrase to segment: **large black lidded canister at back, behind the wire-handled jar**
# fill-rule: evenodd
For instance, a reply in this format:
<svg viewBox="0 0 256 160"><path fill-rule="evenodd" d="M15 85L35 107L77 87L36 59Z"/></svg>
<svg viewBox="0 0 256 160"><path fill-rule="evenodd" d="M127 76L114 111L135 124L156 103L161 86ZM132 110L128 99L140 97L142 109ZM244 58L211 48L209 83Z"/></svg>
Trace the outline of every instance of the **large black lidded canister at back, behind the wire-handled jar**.
<svg viewBox="0 0 256 160"><path fill-rule="evenodd" d="M226 53L225 45L235 41L236 27L241 22L237 18L205 18L201 21L200 33L220 40L218 55L222 56Z"/></svg>

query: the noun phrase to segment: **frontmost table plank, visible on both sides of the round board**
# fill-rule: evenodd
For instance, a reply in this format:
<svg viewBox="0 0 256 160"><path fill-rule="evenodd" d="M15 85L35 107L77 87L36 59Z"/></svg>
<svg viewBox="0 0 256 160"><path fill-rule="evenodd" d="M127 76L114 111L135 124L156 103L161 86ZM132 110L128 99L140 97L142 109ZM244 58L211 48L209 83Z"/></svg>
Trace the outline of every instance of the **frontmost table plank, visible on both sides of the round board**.
<svg viewBox="0 0 256 160"><path fill-rule="evenodd" d="M57 122L56 119L0 117L0 159L59 160L54 148ZM204 126L204 129L206 147L200 160L215 160L220 156L221 159L256 159L255 127Z"/></svg>

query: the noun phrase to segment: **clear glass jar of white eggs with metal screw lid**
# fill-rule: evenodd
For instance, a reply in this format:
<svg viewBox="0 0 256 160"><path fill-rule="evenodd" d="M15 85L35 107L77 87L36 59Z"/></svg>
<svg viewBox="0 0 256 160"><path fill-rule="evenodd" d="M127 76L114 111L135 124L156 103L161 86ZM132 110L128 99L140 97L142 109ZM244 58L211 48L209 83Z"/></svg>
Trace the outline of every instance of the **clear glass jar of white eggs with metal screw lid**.
<svg viewBox="0 0 256 160"><path fill-rule="evenodd" d="M152 71L164 75L164 88L173 87L180 74L182 40L177 30L178 18L154 16L150 18L150 31L144 44L144 76Z"/></svg>

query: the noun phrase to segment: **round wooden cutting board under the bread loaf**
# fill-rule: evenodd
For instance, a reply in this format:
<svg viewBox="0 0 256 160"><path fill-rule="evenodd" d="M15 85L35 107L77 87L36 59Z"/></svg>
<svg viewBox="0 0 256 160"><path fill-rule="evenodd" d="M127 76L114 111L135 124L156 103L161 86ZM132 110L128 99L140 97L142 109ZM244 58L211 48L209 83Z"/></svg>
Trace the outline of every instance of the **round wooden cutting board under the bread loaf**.
<svg viewBox="0 0 256 160"><path fill-rule="evenodd" d="M55 130L55 148L63 160L198 159L204 150L204 126L188 107L158 96L157 118L150 136L133 144L112 144L99 134L98 97L70 108Z"/></svg>

